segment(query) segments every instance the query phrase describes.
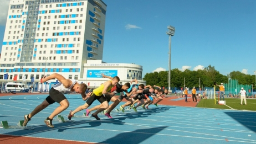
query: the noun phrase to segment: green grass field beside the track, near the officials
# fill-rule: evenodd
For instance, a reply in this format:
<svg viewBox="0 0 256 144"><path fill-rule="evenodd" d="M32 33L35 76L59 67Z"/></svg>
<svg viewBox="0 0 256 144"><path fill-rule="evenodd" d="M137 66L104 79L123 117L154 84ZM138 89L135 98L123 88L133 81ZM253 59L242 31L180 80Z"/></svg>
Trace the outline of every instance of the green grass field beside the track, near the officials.
<svg viewBox="0 0 256 144"><path fill-rule="evenodd" d="M256 111L256 99L246 99L247 105L240 105L240 98L225 98L226 105L237 110L253 110ZM217 102L217 101L216 101ZM215 109L231 109L226 105L214 104L214 99L202 99L197 107L200 108L215 108Z"/></svg>

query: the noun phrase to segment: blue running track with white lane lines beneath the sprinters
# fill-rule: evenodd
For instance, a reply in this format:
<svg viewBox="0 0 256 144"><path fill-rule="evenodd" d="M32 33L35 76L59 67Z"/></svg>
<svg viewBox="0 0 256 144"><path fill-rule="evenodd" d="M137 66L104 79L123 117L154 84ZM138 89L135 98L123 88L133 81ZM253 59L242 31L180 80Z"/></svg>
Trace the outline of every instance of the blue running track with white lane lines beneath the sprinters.
<svg viewBox="0 0 256 144"><path fill-rule="evenodd" d="M70 106L61 115L67 119L69 110L85 102L78 94L65 96ZM17 125L18 120L23 120L23 116L29 114L46 97L46 94L0 97L0 121L8 120L9 125ZM98 101L95 101L90 108L97 104ZM53 121L55 127L51 129L43 121L57 106L57 103L48 106L29 121L27 126L34 126L34 130L0 129L0 134L3 134L0 135L0 143L28 143L23 137L25 140L33 140L32 143L57 143L58 140L64 140L62 143L122 144L256 143L254 112L150 105L149 110L138 108L137 113L133 110L126 113L113 112L113 119L99 114L101 120L73 118L74 123ZM83 113L81 111L76 115Z"/></svg>

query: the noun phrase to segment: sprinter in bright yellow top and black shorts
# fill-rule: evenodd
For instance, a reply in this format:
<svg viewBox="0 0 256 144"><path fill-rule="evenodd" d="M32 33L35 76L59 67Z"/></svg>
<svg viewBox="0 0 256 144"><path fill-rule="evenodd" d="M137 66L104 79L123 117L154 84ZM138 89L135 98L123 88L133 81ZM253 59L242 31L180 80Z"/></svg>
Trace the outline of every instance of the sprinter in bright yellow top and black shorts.
<svg viewBox="0 0 256 144"><path fill-rule="evenodd" d="M109 103L107 102L107 99L104 97L105 95L115 95L114 92L109 92L112 87L114 87L118 82L120 81L119 77L114 77L110 81L106 81L105 83L101 84L100 87L93 90L93 94L91 94L90 98L86 101L84 105L78 106L74 111L70 110L68 119L71 120L72 116L77 113L78 111L81 111L83 109L88 108L96 99L102 104L100 108L95 111L91 116L93 116L95 119L100 120L98 117L98 113L101 111L109 108Z"/></svg>

